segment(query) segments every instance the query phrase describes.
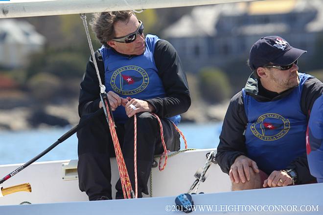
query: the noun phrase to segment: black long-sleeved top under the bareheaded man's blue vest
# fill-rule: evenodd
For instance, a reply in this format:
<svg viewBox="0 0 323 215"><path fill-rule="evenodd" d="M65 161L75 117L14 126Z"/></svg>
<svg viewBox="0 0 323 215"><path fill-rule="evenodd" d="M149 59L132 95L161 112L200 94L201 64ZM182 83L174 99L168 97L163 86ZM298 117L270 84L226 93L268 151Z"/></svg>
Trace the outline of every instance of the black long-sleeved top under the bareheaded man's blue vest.
<svg viewBox="0 0 323 215"><path fill-rule="evenodd" d="M105 71L102 56L99 51L95 52L95 59L102 84L104 85ZM184 113L190 107L191 99L186 75L175 48L165 40L158 41L154 50L154 60L166 97L152 98L146 101L155 108L154 112L162 118ZM99 81L93 60L90 58L86 73L81 82L78 106L80 117L99 109L99 93Z"/></svg>

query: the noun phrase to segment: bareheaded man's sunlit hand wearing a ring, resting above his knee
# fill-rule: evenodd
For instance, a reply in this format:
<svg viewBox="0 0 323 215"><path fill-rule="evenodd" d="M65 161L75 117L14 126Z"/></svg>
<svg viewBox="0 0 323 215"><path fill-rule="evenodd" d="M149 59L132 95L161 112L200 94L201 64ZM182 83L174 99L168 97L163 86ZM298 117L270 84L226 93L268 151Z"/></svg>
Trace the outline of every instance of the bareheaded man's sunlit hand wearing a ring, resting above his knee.
<svg viewBox="0 0 323 215"><path fill-rule="evenodd" d="M127 105L125 105L126 114L130 118L136 113L140 112L153 112L154 107L150 105L148 102L140 100L140 99L131 99Z"/></svg>

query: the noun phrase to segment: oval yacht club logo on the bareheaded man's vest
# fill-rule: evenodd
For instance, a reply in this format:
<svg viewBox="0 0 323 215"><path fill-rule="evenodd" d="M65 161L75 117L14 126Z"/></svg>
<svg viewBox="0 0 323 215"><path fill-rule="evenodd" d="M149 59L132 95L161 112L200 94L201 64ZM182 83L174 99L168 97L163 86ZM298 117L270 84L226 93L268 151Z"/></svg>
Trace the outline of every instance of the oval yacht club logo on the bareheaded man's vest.
<svg viewBox="0 0 323 215"><path fill-rule="evenodd" d="M143 91L149 84L147 72L136 65L116 69L110 82L113 90L122 95L133 95Z"/></svg>

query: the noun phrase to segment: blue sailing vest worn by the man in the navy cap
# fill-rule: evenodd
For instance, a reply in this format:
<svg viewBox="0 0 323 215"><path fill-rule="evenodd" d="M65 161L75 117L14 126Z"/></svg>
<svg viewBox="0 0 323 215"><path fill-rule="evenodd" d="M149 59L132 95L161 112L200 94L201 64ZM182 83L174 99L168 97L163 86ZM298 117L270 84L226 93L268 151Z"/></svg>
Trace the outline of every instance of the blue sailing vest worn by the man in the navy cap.
<svg viewBox="0 0 323 215"><path fill-rule="evenodd" d="M277 101L258 102L242 89L248 118L245 132L248 157L267 174L286 168L306 151L307 119L301 111L300 98L309 77L299 73L299 86Z"/></svg>

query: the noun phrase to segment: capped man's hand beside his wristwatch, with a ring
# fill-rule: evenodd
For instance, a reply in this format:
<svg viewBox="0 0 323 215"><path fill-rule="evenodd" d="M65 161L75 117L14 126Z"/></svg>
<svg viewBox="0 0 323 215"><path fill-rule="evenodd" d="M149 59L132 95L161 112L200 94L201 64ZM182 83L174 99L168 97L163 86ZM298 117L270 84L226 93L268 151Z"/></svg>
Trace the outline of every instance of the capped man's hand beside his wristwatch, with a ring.
<svg viewBox="0 0 323 215"><path fill-rule="evenodd" d="M264 181L263 187L285 187L292 183L292 178L286 172L273 171Z"/></svg>

